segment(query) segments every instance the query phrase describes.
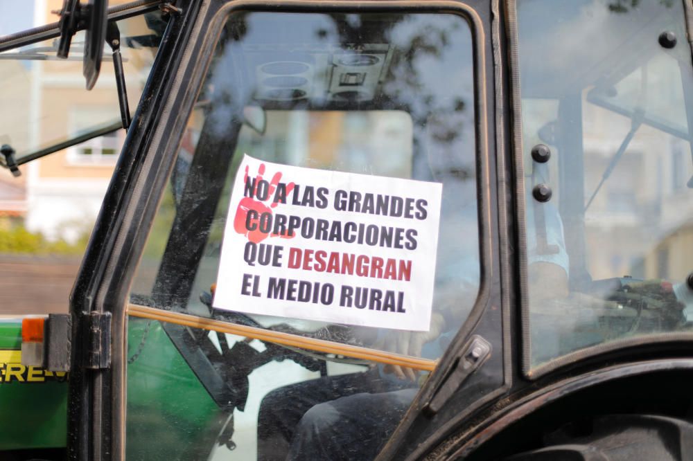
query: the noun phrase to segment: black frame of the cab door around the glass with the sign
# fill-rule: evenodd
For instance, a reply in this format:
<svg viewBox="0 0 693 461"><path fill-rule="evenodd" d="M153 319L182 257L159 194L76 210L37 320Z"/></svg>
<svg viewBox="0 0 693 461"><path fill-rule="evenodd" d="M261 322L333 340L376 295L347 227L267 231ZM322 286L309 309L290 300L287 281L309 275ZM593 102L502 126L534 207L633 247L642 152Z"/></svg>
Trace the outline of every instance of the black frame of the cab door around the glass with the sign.
<svg viewBox="0 0 693 461"><path fill-rule="evenodd" d="M469 3L484 6L486 1L471 1ZM498 15L498 0L493 1ZM226 23L227 16L231 12L243 9L261 11L267 10L311 12L319 9L324 11L358 12L429 12L452 13L462 16L471 28L473 38L474 57L474 81L475 81L475 137L476 137L476 169L477 169L477 195L478 195L478 226L480 243L480 287L475 300L475 305L466 318L459 332L448 347L448 351L441 358L435 372L432 373L427 385L419 392L414 403L401 422L396 433L389 440L383 453L393 453L404 445L412 445L413 440L407 440L406 435L414 433L414 429L422 424L421 409L426 402L435 395L441 384L448 377L459 359L459 352L469 336L475 331L484 330L491 336L493 343L493 361L486 365L486 372L493 375L493 379L484 375L477 375L486 386L490 386L489 392L485 392L481 399L473 399L477 395L478 388L472 388L467 398L473 399L473 405L465 406L464 411L457 412L453 418L441 420L437 423L430 419L423 421L431 428L432 433L422 434L428 437L425 444L419 444L415 453L419 453L426 447L432 446L441 432L438 429L449 431L450 425L459 422L473 412L476 408L488 403L493 398L505 392L511 383L510 368L510 329L509 329L509 302L507 295L501 299L500 284L507 284L506 290L511 289L511 280L497 274L507 275L509 264L505 261L507 252L503 253L503 260L499 259L500 239L505 239L505 219L500 224L499 210L505 210L506 192L505 179L497 177L495 167L499 172L503 171L503 160L491 156L489 145L496 147L495 143L502 145L502 120L493 118L497 105L502 101L498 90L487 91L487 87L493 87L493 78L499 78L498 54L491 52L489 43L491 39L484 34L484 24L491 21L493 13L489 8L475 8L466 3L457 1L339 1L326 3L319 0L286 0L272 3L259 3L257 1L236 0L227 4L222 1L207 0L204 2L181 3L177 5L182 12L177 15L177 20L170 26L164 36L162 48L170 53L166 58L157 60L155 69L152 70L152 78L164 78L157 84L148 84L143 93L141 104L135 119L138 120L123 147L119 165L116 167L114 179L104 201L102 215L97 229L92 237L92 247L85 256L85 263L80 270L76 289L73 293L71 310L73 317L81 318L81 312L86 310L110 312L112 314L112 369L103 372L87 372L79 375L74 389L71 391L71 404L80 401L82 413L75 412L71 417L71 434L76 435L71 439L73 449L71 453L81 453L82 458L111 459L123 458L125 453L125 405L126 405L126 368L127 368L127 305L128 294L132 276L134 275L139 255L143 251L150 225L153 222L169 174L175 164L175 158L179 149L180 136L184 132L188 116L193 109L193 104L202 88L202 82L207 74L207 69L213 57L214 48L218 42L221 30ZM483 15L483 19L482 16ZM497 19L496 19L497 21ZM496 22L497 24L497 22ZM185 30L188 35L175 35L177 31ZM498 47L498 40L495 40ZM495 72L491 71L495 67ZM177 71L172 75L170 71ZM150 83L151 83L150 79ZM497 83L500 84L500 83ZM158 98L147 98L159 94ZM494 109L492 110L491 107ZM495 120L495 122L494 122ZM493 129L498 129L496 138L492 134ZM490 131L491 130L491 131ZM170 136L170 134L176 134ZM492 148L493 148L492 147ZM502 152L502 147L498 147ZM498 156L502 157L502 156ZM505 172L500 174L505 178ZM500 192L499 192L500 190ZM502 216L502 213L500 213ZM500 230L499 230L500 228ZM94 244L94 239L100 242ZM505 245L501 248L505 248ZM495 307L495 309L489 309ZM500 307L500 309L499 309ZM493 311L493 322L489 325L489 316ZM491 314L489 314L491 315ZM501 323L501 327L498 327ZM77 323L76 323L77 324ZM483 325L482 325L483 324ZM75 332L73 332L75 333ZM73 334L79 338L78 333ZM502 352L502 353L498 353ZM489 371L489 369L493 371ZM74 375L73 375L74 376ZM464 394L461 386L457 394ZM89 400L81 390L90 388L94 392L94 399ZM77 392L76 392L77 390ZM91 395L91 394L88 394ZM80 415L89 413L88 419L82 419ZM441 412L442 413L442 412ZM441 415L442 416L442 415ZM74 430L74 428L78 430ZM79 433L90 431L92 437L87 442L86 437L79 437ZM100 437L103 438L99 438ZM416 446L412 446L414 449Z"/></svg>

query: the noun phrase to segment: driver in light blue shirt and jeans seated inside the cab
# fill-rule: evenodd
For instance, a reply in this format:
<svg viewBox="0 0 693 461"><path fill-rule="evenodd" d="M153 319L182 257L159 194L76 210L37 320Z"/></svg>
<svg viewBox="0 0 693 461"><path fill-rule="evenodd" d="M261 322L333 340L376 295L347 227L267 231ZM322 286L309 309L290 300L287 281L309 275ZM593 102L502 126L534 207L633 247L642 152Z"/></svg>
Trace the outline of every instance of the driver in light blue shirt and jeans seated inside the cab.
<svg viewBox="0 0 693 461"><path fill-rule="evenodd" d="M477 228L475 185L452 176L436 179L448 192L441 204L439 239L456 241L462 250L439 251L430 329L379 329L371 339L372 347L430 359L439 358L454 338L461 319L466 318L459 311L472 309L480 282L477 240L464 239L465 232ZM450 193L453 188L455 191ZM536 210L543 213L545 222L539 233ZM568 254L556 208L552 204L534 204L532 195L528 195L527 228L529 279L541 285L543 298L565 298ZM538 244L537 234L546 242ZM426 375L417 370L378 364L366 372L321 377L273 390L263 399L258 415L258 460L373 459L425 379Z"/></svg>

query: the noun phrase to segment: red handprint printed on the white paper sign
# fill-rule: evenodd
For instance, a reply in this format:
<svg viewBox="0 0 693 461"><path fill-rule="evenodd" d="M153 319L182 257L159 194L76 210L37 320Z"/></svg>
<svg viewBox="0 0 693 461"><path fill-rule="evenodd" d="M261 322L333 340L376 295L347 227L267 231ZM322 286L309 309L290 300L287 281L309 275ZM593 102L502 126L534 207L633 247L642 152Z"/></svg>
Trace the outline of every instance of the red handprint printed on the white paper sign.
<svg viewBox="0 0 693 461"><path fill-rule="evenodd" d="M279 181L281 180L281 172L275 173L272 177L272 181L269 183L263 180L263 174L265 174L264 163L258 168L258 174L254 179L254 183L252 183L252 187L248 188L248 165L245 166L243 184L244 188L246 188L246 194L248 195L249 193L250 197L244 197L238 204L238 208L236 208L236 217L234 217L234 229L237 233L248 237L248 240L253 243L260 243L267 237L292 238L293 235L281 235L263 232L261 230L261 216L263 213L272 215L272 208L278 204L278 202L274 200L274 191L277 190L277 186L279 186ZM284 197L287 197L293 189L294 183L288 183L286 185L286 194ZM267 201L271 202L270 206L265 205ZM248 213L251 211L254 213L248 217ZM252 228L252 230L249 230L249 227Z"/></svg>

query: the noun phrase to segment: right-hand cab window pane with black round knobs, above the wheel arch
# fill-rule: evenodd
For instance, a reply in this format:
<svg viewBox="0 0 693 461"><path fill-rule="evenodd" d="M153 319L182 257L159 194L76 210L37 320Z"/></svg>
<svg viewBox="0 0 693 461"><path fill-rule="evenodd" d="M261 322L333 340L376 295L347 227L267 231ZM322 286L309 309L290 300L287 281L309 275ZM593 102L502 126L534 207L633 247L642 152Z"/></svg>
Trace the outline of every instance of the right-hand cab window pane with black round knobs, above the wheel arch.
<svg viewBox="0 0 693 461"><path fill-rule="evenodd" d="M683 2L517 6L532 365L690 332L693 71Z"/></svg>

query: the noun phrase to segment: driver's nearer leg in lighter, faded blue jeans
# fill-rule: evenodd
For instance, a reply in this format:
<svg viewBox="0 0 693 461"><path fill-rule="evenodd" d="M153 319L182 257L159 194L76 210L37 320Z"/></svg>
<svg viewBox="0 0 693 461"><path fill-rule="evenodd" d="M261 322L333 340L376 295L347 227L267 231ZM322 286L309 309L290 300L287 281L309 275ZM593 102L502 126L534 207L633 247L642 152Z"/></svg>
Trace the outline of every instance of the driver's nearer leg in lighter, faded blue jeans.
<svg viewBox="0 0 693 461"><path fill-rule="evenodd" d="M372 460L418 390L364 392L313 406L301 418L286 459Z"/></svg>

